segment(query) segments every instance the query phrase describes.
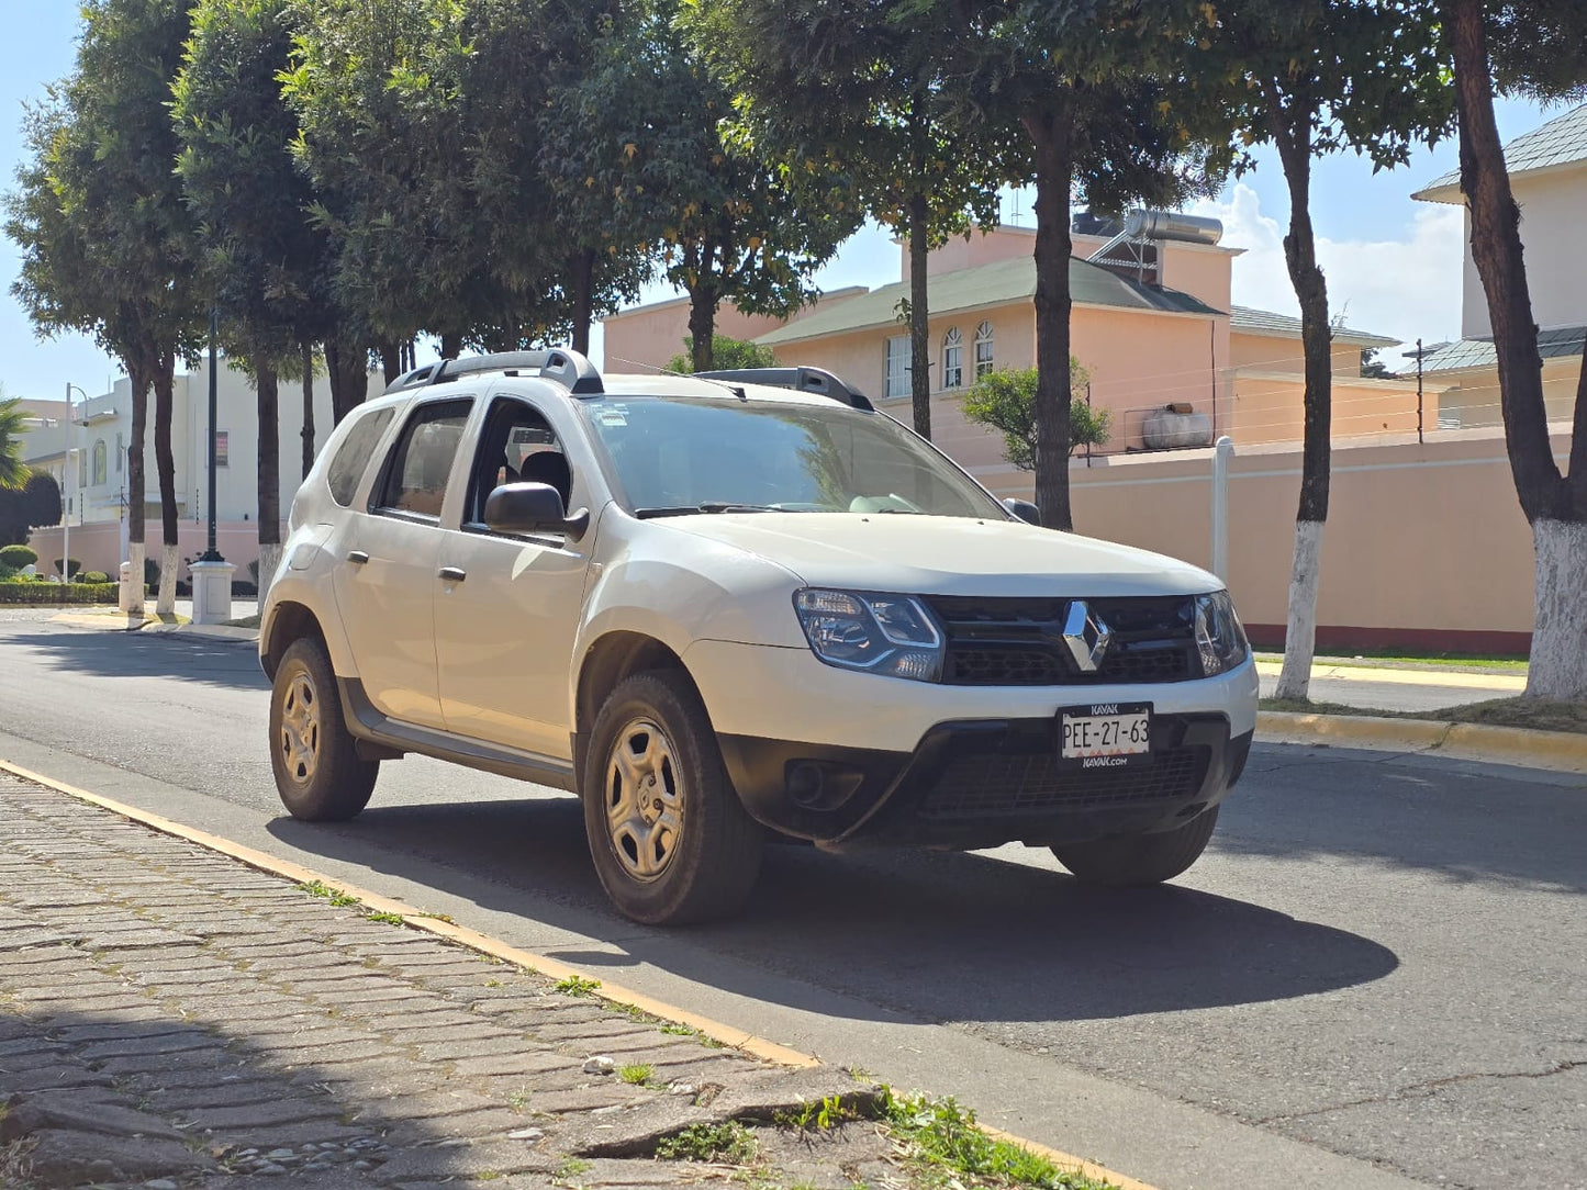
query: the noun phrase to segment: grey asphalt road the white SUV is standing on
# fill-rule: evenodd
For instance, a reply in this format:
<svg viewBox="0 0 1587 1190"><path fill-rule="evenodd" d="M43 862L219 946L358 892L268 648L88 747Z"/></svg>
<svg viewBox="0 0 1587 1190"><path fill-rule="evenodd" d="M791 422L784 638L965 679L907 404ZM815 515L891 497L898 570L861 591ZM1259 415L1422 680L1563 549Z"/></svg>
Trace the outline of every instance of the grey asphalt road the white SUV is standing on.
<svg viewBox="0 0 1587 1190"><path fill-rule="evenodd" d="M776 847L732 923L613 916L576 804L428 760L281 817L246 647L0 611L0 757L402 896L1165 1190L1587 1187L1587 781L1262 747L1203 860Z"/></svg>

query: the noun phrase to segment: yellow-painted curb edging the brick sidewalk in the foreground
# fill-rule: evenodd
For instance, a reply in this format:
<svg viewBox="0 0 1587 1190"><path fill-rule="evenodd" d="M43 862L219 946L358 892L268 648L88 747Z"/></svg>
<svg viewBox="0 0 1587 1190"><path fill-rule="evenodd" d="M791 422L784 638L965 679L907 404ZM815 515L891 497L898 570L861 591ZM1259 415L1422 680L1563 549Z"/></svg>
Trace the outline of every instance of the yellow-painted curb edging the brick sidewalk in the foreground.
<svg viewBox="0 0 1587 1190"><path fill-rule="evenodd" d="M346 893L348 896L355 896L360 904L375 912L397 914L403 922L424 933L435 935L436 938L446 938L459 946L465 946L470 950L476 950L482 955L492 958L500 958L505 963L513 963L522 966L528 971L535 971L549 979L581 979L597 984L592 988L592 995L600 996L613 1004L621 1004L627 1008L636 1008L641 1012L649 1012L652 1017L668 1020L674 1025L687 1025L689 1028L698 1030L713 1041L719 1041L732 1049L743 1050L751 1057L760 1058L762 1061L771 1061L779 1066L795 1066L800 1069L814 1069L822 1066L820 1058L813 1054L803 1054L797 1049L787 1046L779 1046L774 1041L767 1041L752 1033L746 1033L733 1025L724 1025L719 1020L711 1020L709 1017L701 1017L698 1012L690 1012L686 1008L678 1008L676 1004L668 1004L662 1000L646 995L644 992L635 992L633 988L622 987L621 984L609 984L595 979L587 971L581 971L576 966L559 962L555 958L548 958L546 955L536 955L528 950L521 950L516 946L508 946L506 942L482 935L478 930L470 930L468 927L457 925L454 922L443 920L425 914L421 909L414 909L405 901L392 900L376 892L367 889L359 889L357 885L346 884L332 876L324 876L311 868L305 868L292 860L282 860L270 855L254 847L246 847L241 843L233 843L232 839L224 839L219 835L211 835L209 831L197 830L194 827L184 827L179 822L152 814L136 806L129 806L124 801L116 801L114 798L106 798L98 793L90 793L86 789L78 789L76 785L68 785L65 782L56 781L54 777L46 777L43 773L33 773L32 770L22 768L21 765L13 765L10 760L0 760L0 773L10 773L11 776L22 777L24 781L32 781L46 789L52 789L57 793L65 793L70 798L84 801L90 806L98 806L111 814L119 814L124 819L136 822L151 830L157 830L162 835L171 835L178 839L186 839L187 843L197 844L208 850L217 852L229 858L246 863L249 868L268 873L271 876L281 876L287 881L297 884L322 884L325 887L335 889ZM1027 1141L1024 1136L1016 1136L1014 1133L1006 1133L1000 1128L992 1128L984 1123L978 1123L982 1133L995 1141L1006 1141L1008 1144L1016 1144L1027 1152L1044 1157L1054 1165L1082 1173L1087 1177L1100 1182L1111 1182L1119 1187L1119 1190L1155 1190L1146 1182L1139 1182L1125 1174L1108 1169L1106 1166L1097 1165L1095 1161L1087 1161L1084 1157L1076 1157L1074 1154L1066 1154L1060 1149L1051 1149L1036 1141Z"/></svg>

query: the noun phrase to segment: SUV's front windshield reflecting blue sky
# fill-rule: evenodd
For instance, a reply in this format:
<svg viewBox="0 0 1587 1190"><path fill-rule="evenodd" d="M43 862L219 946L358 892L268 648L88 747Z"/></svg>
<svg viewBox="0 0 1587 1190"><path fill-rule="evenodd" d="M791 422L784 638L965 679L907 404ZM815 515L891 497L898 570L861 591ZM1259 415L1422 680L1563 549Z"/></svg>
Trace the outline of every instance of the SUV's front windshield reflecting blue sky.
<svg viewBox="0 0 1587 1190"><path fill-rule="evenodd" d="M1001 505L882 414L792 401L606 397L579 403L640 516L917 512Z"/></svg>

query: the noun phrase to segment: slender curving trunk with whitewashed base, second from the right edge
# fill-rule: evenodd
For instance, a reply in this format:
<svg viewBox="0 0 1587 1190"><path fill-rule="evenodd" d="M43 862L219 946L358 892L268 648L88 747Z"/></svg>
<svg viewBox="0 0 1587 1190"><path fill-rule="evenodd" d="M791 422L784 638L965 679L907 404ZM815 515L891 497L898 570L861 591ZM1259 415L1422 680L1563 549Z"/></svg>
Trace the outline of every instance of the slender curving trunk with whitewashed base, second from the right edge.
<svg viewBox="0 0 1587 1190"><path fill-rule="evenodd" d="M1273 140L1290 192L1290 230L1284 262L1300 300L1300 341L1306 359L1301 398L1300 508L1295 514L1295 559L1290 568L1289 619L1284 628L1284 668L1274 690L1279 698L1305 701L1311 693L1311 662L1317 651L1317 589L1322 579L1322 528L1328 520L1328 479L1333 454L1333 332L1328 328L1328 282L1317 267L1311 227L1311 121L1293 125L1274 116Z"/></svg>

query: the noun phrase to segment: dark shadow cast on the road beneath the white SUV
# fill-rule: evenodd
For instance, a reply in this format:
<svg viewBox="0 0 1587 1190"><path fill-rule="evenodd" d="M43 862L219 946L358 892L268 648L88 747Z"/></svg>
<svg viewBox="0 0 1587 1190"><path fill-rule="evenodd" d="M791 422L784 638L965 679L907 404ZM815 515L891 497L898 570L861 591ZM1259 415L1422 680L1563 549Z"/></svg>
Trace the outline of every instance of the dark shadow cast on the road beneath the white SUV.
<svg viewBox="0 0 1587 1190"><path fill-rule="evenodd" d="M614 982L646 963L828 1015L1112 1019L1316 995L1398 966L1368 938L1189 887L1098 890L987 855L917 850L773 846L741 916L636 927L608 908L571 798L376 803L344 827L278 819L270 831L601 939L616 949L555 955L608 966Z"/></svg>

